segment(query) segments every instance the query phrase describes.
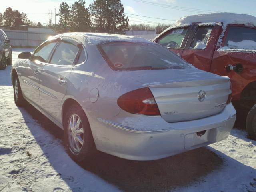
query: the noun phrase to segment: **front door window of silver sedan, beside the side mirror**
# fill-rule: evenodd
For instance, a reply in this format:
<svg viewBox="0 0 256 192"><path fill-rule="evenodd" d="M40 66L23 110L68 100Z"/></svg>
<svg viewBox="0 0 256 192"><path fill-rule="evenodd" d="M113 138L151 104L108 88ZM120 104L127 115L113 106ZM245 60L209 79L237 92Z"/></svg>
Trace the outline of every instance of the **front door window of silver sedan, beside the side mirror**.
<svg viewBox="0 0 256 192"><path fill-rule="evenodd" d="M34 51L33 59L39 60L41 62L47 62L50 56L50 53L52 52L52 49L54 48L55 45L56 45L56 41L53 41L53 42L46 42L42 46L38 47Z"/></svg>

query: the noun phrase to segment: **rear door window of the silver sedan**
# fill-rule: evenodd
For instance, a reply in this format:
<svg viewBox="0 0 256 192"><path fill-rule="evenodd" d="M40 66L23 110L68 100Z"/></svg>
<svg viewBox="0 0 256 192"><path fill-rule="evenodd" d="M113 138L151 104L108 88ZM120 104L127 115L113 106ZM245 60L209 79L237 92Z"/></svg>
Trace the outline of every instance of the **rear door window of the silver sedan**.
<svg viewBox="0 0 256 192"><path fill-rule="evenodd" d="M72 65L78 51L79 48L74 44L69 42L60 42L50 63L56 65Z"/></svg>

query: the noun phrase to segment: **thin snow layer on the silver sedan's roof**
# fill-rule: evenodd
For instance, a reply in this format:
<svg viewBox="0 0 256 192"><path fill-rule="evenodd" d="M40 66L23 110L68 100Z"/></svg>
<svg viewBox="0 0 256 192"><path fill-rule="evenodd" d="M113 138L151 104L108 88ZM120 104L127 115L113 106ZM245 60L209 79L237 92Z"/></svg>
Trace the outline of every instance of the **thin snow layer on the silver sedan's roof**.
<svg viewBox="0 0 256 192"><path fill-rule="evenodd" d="M142 43L153 43L150 40L146 40L140 37L107 34L107 33L63 33L56 37L70 37L80 40L85 46L86 45L97 45L104 42L112 41L128 41L128 42L142 42Z"/></svg>

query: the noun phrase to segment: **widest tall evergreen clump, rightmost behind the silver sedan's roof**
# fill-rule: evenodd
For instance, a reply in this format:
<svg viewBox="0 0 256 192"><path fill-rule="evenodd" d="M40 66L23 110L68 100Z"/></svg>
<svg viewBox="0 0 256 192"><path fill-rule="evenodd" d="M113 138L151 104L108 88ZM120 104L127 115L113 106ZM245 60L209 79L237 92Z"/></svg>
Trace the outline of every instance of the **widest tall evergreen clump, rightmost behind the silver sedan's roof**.
<svg viewBox="0 0 256 192"><path fill-rule="evenodd" d="M90 12L98 32L121 33L129 27L120 0L94 0L90 4Z"/></svg>

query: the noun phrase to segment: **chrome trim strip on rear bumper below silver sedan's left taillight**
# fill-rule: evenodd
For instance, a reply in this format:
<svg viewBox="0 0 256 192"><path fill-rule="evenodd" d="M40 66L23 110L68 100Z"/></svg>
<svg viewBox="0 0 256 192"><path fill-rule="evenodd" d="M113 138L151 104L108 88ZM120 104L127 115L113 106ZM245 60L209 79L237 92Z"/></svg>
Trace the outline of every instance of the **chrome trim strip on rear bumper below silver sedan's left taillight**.
<svg viewBox="0 0 256 192"><path fill-rule="evenodd" d="M160 132L167 132L167 131L169 131L169 130L138 131L138 130L132 130L132 128L130 128L128 126L124 126L124 125L121 125L119 123L115 123L115 122L111 122L111 121L108 121L108 120L104 120L102 118L97 118L97 119L98 119L98 121L100 121L102 123L108 124L110 126L113 126L115 128L119 128L119 129L122 129L122 130L125 130L125 131L133 132L133 133L152 134L152 133L160 133Z"/></svg>

